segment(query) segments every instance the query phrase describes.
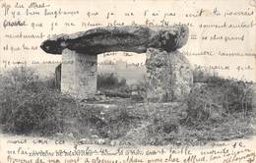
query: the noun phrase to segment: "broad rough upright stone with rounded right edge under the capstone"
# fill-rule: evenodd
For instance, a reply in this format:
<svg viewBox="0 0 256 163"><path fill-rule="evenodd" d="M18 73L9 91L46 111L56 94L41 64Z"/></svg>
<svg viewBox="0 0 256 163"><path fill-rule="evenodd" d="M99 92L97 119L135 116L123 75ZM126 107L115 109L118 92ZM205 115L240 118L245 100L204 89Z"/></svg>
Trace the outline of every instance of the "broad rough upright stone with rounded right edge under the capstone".
<svg viewBox="0 0 256 163"><path fill-rule="evenodd" d="M146 67L149 100L180 101L189 94L193 84L192 69L180 52L149 48Z"/></svg>

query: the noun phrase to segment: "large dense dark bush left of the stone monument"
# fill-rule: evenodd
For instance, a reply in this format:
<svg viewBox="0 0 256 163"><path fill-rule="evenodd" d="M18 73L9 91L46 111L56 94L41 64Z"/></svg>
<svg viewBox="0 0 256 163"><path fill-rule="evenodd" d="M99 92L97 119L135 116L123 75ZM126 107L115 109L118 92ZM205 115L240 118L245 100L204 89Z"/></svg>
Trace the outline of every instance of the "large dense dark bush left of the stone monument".
<svg viewBox="0 0 256 163"><path fill-rule="evenodd" d="M47 84L27 67L5 73L0 91L0 123L5 132L49 136L63 131L61 104L66 97Z"/></svg>

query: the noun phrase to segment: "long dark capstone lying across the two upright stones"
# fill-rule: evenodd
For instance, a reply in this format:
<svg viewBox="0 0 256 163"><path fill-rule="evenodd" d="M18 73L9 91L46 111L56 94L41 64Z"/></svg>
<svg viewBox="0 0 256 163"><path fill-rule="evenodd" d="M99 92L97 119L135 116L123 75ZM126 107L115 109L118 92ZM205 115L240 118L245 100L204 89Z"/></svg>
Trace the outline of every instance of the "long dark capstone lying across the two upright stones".
<svg viewBox="0 0 256 163"><path fill-rule="evenodd" d="M188 27L96 27L74 34L61 34L45 40L41 48L61 54L66 48L78 53L96 55L110 51L145 53L147 48L174 51L186 44Z"/></svg>

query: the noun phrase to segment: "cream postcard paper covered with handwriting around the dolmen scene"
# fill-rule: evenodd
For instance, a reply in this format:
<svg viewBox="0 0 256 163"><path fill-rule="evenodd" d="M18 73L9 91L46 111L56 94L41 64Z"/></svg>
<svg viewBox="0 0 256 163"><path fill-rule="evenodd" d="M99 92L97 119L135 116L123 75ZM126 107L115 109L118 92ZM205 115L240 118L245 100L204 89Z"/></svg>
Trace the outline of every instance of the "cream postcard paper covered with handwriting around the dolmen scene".
<svg viewBox="0 0 256 163"><path fill-rule="evenodd" d="M55 34L105 26L187 25L189 40L180 51L194 68L256 81L255 0L0 0L0 13L0 72L39 64L52 65L41 69L42 74L54 72L61 56L46 54L39 46ZM99 56L98 62L143 64L145 59L145 54L121 53ZM255 137L196 147L126 148L5 135L0 136L0 163L256 162L255 146Z"/></svg>

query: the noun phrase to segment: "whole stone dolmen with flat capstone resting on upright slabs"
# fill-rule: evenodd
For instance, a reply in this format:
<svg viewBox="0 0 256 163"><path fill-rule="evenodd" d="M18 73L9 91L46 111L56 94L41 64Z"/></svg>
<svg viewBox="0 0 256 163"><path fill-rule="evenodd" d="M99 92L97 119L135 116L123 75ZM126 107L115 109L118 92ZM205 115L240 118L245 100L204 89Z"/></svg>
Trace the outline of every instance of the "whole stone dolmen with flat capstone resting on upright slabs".
<svg viewBox="0 0 256 163"><path fill-rule="evenodd" d="M61 34L52 37L42 42L40 47L47 53L62 54L61 91L78 98L88 98L96 94L96 61L98 54L113 51L148 53L148 65L146 63L146 66L149 69L149 86L151 87L149 94L156 95L154 91L157 91L159 86L161 87L160 89L164 89L163 87L166 87L166 82L169 82L171 79L170 77L166 79L160 78L156 81L156 77L152 77L156 75L154 72L158 71L159 66L166 65L166 62L168 64L171 63L169 60L163 60L160 65L154 64L157 62L156 52L160 55L164 54L165 57L168 55L182 55L176 52L176 50L185 45L187 39L188 27L185 26L154 28L143 26L96 27L74 34ZM180 57L173 58L176 61L178 60L176 58ZM181 58L178 61L182 62L185 60L186 70L190 69L188 61L184 56ZM161 71L165 75L171 76L172 72L168 71L173 71L174 69L165 68ZM192 76L190 73L185 74L189 76L187 78L189 80L184 84L187 84L187 87L189 87ZM171 94L167 95L168 100L174 99L173 95L178 96L177 94L180 94L174 93L174 87L171 87L171 85L178 85L174 84L174 82L172 80L171 83L167 84L169 89L167 94ZM190 89L182 88L181 91L183 94L187 94ZM159 93L160 95L157 95L156 98L160 100L166 98L165 91Z"/></svg>

